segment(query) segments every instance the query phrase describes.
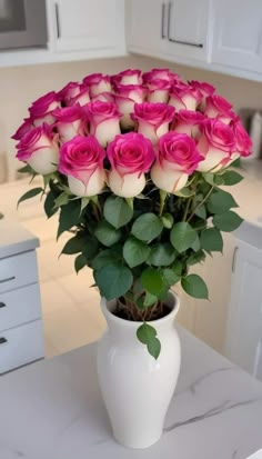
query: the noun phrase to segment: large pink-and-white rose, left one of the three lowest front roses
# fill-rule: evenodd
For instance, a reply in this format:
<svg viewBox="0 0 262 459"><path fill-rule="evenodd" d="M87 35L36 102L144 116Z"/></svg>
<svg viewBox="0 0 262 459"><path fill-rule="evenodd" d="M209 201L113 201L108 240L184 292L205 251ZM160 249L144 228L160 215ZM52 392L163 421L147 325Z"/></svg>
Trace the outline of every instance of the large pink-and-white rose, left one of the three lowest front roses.
<svg viewBox="0 0 262 459"><path fill-rule="evenodd" d="M104 187L104 149L93 136L77 136L60 149L59 172L68 176L70 191L79 197L95 196Z"/></svg>

